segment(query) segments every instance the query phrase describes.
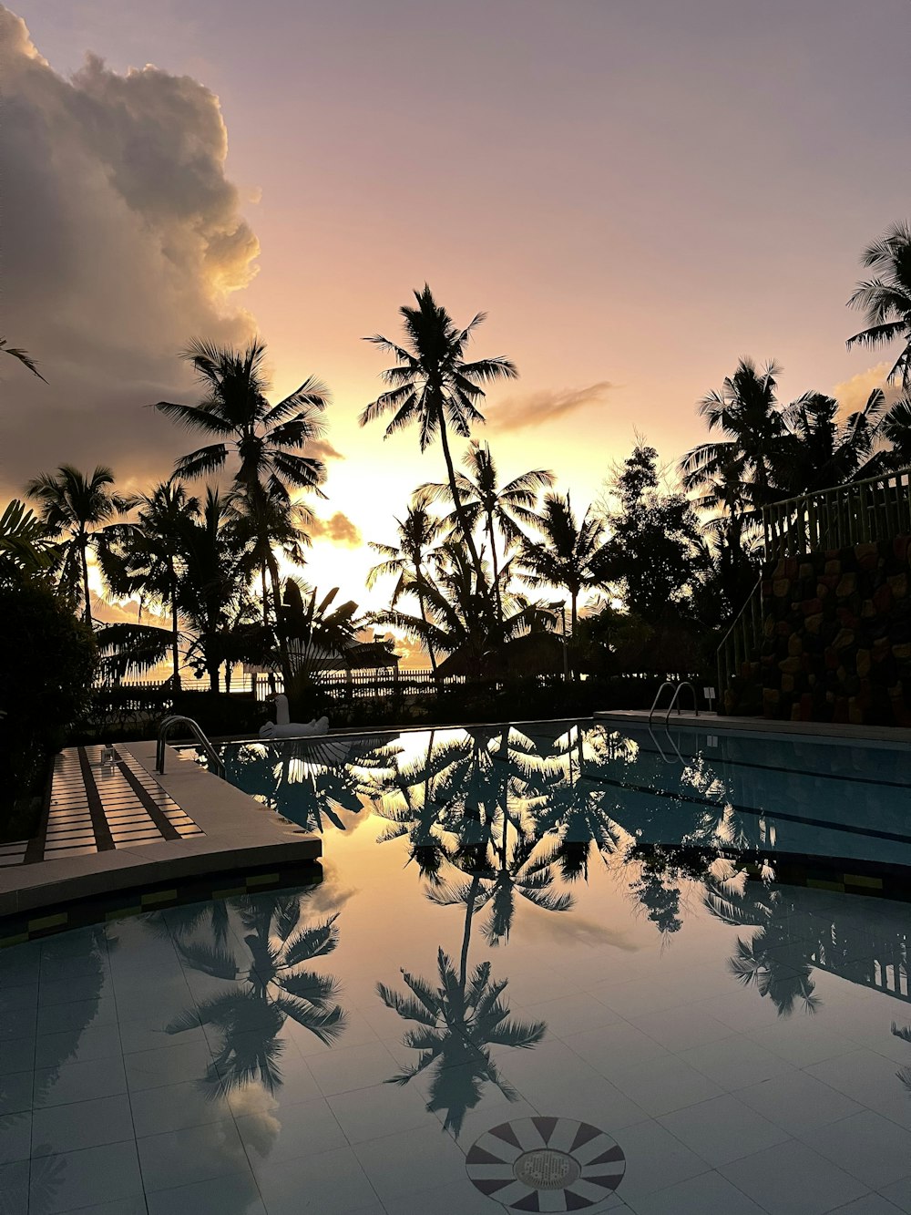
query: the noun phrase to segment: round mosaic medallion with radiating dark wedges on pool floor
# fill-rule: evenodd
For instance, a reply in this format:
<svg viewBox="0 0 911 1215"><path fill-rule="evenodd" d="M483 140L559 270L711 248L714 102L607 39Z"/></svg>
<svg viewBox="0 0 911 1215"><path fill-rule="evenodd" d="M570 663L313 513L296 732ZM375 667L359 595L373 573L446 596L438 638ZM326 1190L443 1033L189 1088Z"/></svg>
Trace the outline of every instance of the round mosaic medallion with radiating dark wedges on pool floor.
<svg viewBox="0 0 911 1215"><path fill-rule="evenodd" d="M514 1211L581 1211L623 1180L616 1140L573 1118L516 1118L485 1131L466 1158L474 1185Z"/></svg>

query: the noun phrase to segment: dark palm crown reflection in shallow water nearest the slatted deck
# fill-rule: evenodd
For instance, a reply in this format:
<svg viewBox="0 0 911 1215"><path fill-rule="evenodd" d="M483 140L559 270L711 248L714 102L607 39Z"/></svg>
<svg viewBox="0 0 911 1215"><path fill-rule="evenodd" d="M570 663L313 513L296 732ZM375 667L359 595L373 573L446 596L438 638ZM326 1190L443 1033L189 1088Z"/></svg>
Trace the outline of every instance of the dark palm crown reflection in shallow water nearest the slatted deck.
<svg viewBox="0 0 911 1215"><path fill-rule="evenodd" d="M236 984L165 1027L169 1034L179 1034L202 1022L219 1032L221 1044L205 1078L214 1091L221 1085L238 1089L259 1078L273 1092L282 1083L278 1061L284 1044L278 1034L288 1017L327 1045L345 1028L345 1013L334 1002L336 981L305 968L306 962L335 949L338 912L321 923L301 923L306 897L307 892L258 895L232 904L247 929L245 959L215 934L203 940L176 938L188 966Z"/></svg>

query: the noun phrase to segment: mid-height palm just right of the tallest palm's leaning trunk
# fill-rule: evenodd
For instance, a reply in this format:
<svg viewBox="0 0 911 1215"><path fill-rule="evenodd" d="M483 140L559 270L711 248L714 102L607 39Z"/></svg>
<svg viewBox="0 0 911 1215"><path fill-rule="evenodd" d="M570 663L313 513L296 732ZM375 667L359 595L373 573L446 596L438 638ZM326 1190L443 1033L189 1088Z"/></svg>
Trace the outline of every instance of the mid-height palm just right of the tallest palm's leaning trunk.
<svg viewBox="0 0 911 1215"><path fill-rule="evenodd" d="M468 469L468 474L459 473L455 476L455 485L462 497L462 515L469 527L474 529L479 522L482 526L493 566L497 616L502 622L503 599L499 588L496 531L499 530L503 536L507 550L511 544L524 539L525 533L520 524L534 524L538 492L550 488L556 479L547 469L531 469L528 473L521 473L513 477L507 485L499 486L490 443L481 446L475 440L469 443L462 463ZM415 501L421 504L441 499L453 502L452 487L448 482L428 482L421 485L415 493ZM449 522L458 524L458 518L452 518Z"/></svg>

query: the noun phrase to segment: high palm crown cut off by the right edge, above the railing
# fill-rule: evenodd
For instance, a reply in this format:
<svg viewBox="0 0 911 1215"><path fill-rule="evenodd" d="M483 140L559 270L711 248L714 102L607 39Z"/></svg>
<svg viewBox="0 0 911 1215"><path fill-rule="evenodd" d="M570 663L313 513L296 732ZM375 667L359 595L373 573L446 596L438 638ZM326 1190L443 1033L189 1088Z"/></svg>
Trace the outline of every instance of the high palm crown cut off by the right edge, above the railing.
<svg viewBox="0 0 911 1215"><path fill-rule="evenodd" d="M866 329L845 343L876 350L896 338L904 345L887 380L901 377L904 389L911 386L911 227L893 224L884 237L873 241L861 255L862 265L876 271L873 278L858 284L848 300L849 307L865 312Z"/></svg>

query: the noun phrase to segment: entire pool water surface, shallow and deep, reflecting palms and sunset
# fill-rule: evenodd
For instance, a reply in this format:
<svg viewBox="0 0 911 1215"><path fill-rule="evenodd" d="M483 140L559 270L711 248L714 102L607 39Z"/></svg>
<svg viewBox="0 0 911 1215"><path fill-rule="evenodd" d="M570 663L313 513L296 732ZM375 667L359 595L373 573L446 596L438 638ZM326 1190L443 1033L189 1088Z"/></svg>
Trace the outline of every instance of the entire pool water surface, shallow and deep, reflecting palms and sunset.
<svg viewBox="0 0 911 1215"><path fill-rule="evenodd" d="M906 752L828 751L867 838L820 748L686 741L228 748L323 881L0 953L0 1213L907 1213L911 905L742 868L892 847Z"/></svg>

